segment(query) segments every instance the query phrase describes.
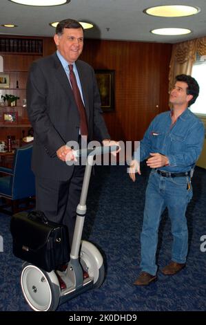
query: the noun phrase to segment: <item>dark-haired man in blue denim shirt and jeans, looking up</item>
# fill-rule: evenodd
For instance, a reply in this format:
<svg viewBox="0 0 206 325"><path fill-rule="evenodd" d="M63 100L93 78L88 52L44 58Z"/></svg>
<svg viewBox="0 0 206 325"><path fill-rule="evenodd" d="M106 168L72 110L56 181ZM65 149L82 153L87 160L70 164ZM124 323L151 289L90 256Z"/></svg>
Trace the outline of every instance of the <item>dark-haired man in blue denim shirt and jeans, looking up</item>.
<svg viewBox="0 0 206 325"><path fill-rule="evenodd" d="M140 160L152 169L147 184L143 229L141 232L141 274L136 286L156 280L156 248L161 214L167 207L172 224L172 261L161 270L175 275L185 267L188 231L185 212L192 198L191 177L203 148L203 123L189 111L198 97L199 86L189 75L176 76L169 97L173 109L154 118L140 145ZM130 178L141 174L138 153L130 164Z"/></svg>

